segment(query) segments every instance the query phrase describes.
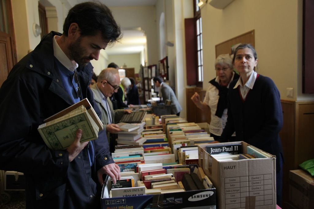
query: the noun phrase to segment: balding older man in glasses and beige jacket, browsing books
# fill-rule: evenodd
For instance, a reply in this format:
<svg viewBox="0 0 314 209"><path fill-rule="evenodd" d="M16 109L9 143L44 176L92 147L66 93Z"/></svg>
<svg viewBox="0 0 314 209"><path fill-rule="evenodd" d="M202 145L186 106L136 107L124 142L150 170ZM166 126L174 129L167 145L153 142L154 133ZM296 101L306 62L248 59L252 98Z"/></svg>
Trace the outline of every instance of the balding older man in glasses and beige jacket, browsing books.
<svg viewBox="0 0 314 209"><path fill-rule="evenodd" d="M95 102L101 111L101 122L104 124L104 129L107 131L111 152L114 151L116 139L113 134L121 131L119 126L115 124L115 121L119 121L123 114L132 112L132 110L113 110L110 97L118 91L120 88L119 84L119 71L109 67L100 72L97 82L90 87L94 93Z"/></svg>

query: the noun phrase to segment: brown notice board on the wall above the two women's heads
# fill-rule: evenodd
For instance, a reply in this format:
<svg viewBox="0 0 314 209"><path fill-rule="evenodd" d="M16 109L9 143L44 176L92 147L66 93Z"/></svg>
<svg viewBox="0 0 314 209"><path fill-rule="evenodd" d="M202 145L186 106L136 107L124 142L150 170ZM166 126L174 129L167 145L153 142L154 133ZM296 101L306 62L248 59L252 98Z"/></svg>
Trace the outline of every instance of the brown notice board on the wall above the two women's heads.
<svg viewBox="0 0 314 209"><path fill-rule="evenodd" d="M226 40L220 44L216 45L216 57L220 54L231 54L231 46L242 43L242 44L251 44L255 47L254 40L254 30L246 32L242 35L236 36L232 39Z"/></svg>

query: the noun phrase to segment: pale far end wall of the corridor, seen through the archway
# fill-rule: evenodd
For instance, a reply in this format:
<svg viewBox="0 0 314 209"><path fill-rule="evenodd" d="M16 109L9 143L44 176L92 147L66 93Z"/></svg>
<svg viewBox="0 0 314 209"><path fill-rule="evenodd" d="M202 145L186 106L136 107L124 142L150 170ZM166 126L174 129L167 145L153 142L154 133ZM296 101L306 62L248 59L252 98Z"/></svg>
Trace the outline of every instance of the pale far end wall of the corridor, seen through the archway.
<svg viewBox="0 0 314 209"><path fill-rule="evenodd" d="M140 53L137 54L125 54L125 55L109 55L108 62L114 62L119 67L123 66L124 64L127 68L134 67L134 72L138 73L141 64L141 56Z"/></svg>

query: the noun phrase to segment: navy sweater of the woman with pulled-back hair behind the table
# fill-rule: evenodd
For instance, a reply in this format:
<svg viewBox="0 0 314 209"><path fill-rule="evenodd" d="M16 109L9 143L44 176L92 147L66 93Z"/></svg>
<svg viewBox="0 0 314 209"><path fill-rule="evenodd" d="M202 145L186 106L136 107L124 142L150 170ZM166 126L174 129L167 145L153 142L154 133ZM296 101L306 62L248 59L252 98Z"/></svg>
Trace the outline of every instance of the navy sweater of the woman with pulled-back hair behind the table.
<svg viewBox="0 0 314 209"><path fill-rule="evenodd" d="M283 117L276 85L270 78L258 75L253 89L242 101L239 87L234 89L236 82L230 83L227 123L218 141L227 142L236 131L236 141L249 143L280 159ZM279 171L279 163L276 164Z"/></svg>

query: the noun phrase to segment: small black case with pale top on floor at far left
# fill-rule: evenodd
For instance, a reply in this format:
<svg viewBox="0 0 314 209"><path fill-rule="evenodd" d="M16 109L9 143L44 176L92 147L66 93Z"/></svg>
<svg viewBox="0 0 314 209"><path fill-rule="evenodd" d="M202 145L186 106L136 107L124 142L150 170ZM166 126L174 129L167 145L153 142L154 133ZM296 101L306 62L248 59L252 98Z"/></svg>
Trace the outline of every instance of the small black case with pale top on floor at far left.
<svg viewBox="0 0 314 209"><path fill-rule="evenodd" d="M16 171L6 171L4 185L4 190L25 190L24 174Z"/></svg>

